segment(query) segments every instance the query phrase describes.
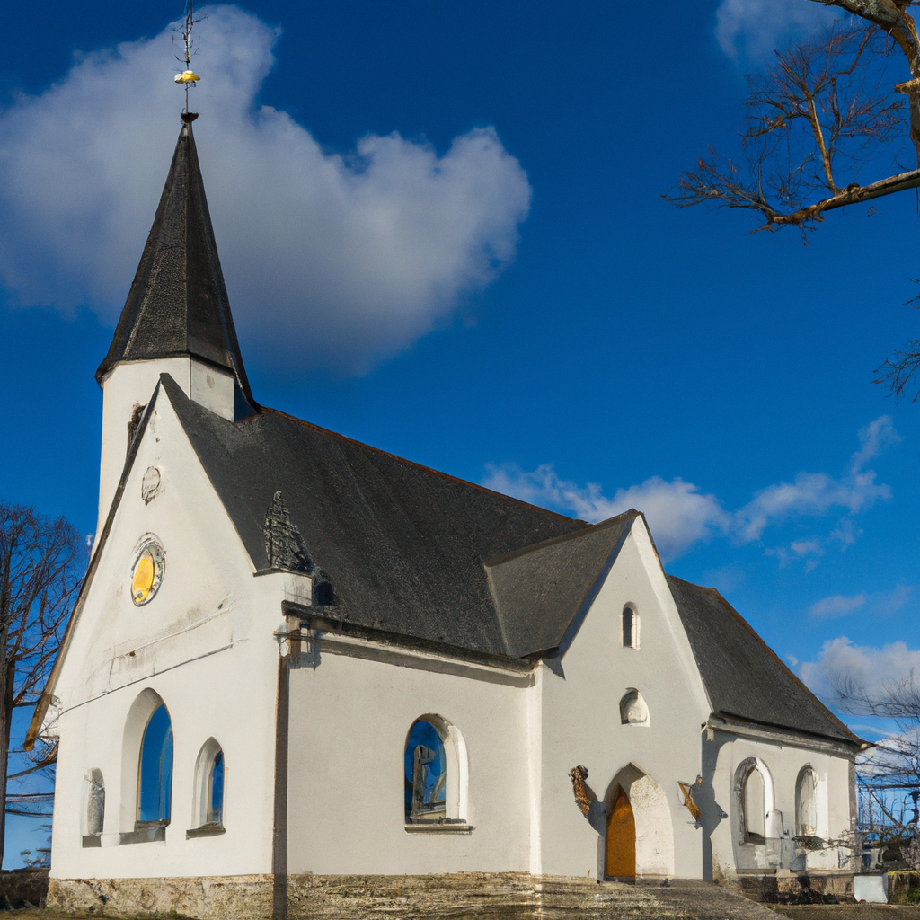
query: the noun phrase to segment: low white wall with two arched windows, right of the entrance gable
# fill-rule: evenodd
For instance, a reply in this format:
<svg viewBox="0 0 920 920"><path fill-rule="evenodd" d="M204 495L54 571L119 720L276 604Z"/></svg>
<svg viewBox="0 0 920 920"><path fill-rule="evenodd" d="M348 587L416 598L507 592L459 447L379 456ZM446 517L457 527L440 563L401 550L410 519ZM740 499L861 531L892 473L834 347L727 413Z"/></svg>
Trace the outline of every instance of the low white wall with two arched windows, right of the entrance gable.
<svg viewBox="0 0 920 920"><path fill-rule="evenodd" d="M849 758L834 746L819 741L800 743L771 741L737 736L727 731L713 732L707 742L713 752L716 769L713 787L719 807L728 817L712 833L713 870L730 874L736 866L745 868L790 868L789 857L795 851L796 783L802 767L811 765L818 780L816 804L818 836L829 842L826 849L808 854L808 864L799 868L838 869L841 866L838 843L852 840L849 790ZM767 837L782 840L782 846L767 840L766 845L741 841L741 819L735 801L734 786L738 768L748 758L756 757L768 771L765 776ZM772 802L771 802L772 799ZM844 846L844 856L850 851Z"/></svg>

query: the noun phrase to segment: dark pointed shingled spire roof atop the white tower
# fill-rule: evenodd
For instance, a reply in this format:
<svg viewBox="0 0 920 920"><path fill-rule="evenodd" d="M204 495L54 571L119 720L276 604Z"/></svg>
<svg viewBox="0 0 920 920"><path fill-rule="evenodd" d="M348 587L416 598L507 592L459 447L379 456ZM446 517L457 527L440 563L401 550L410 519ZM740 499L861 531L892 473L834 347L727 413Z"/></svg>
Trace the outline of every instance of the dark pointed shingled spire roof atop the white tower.
<svg viewBox="0 0 920 920"><path fill-rule="evenodd" d="M232 371L252 401L217 257L191 120L179 132L141 264L96 379L101 384L122 361L183 355Z"/></svg>

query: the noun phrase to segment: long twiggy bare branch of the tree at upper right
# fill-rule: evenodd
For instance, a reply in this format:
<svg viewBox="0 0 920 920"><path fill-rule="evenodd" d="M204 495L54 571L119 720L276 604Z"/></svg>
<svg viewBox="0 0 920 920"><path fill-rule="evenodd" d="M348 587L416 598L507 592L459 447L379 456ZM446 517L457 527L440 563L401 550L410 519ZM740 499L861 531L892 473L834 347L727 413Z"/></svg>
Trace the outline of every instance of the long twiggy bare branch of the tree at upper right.
<svg viewBox="0 0 920 920"><path fill-rule="evenodd" d="M739 155L710 151L664 197L682 208L709 202L747 209L759 213L760 229L776 230L920 187L920 169L859 181L880 148L904 133L903 100L882 88L876 66L889 53L888 40L875 25L857 22L776 52L764 75L747 77Z"/></svg>

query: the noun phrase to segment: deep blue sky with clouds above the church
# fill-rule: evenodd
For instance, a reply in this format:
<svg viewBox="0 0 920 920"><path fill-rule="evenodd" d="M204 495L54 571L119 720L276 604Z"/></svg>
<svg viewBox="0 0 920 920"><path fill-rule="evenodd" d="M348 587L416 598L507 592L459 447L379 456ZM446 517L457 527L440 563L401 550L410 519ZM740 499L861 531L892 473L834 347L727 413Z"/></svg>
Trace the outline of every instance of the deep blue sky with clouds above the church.
<svg viewBox="0 0 920 920"><path fill-rule="evenodd" d="M159 2L6 11L0 500L96 525L93 374L178 133ZM819 691L920 665L913 194L807 247L661 195L806 0L211 7L195 131L257 399L599 519L646 510ZM859 728L864 721L849 719ZM874 737L874 736L873 736ZM13 845L10 846L13 849Z"/></svg>

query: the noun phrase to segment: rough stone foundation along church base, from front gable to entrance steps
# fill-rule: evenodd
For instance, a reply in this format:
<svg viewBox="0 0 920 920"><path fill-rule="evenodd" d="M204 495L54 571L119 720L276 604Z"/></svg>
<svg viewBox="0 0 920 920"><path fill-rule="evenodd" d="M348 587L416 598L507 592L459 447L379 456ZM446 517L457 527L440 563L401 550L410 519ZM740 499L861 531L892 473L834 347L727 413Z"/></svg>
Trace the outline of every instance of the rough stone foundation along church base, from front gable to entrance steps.
<svg viewBox="0 0 920 920"><path fill-rule="evenodd" d="M279 880L281 882L281 880ZM592 879L535 877L527 873L477 873L424 876L297 875L287 880L282 896L283 920L420 920L422 917L494 916L498 911L515 920L544 915L543 908L604 913L673 916L671 902L694 904L692 915L772 918L757 904L733 897L705 882L640 880L636 885ZM283 884L279 886L279 893ZM270 920L275 880L270 875L224 876L206 879L52 879L49 907L101 916L176 914L201 920ZM704 905L718 901L707 912ZM699 908L699 909L697 909ZM763 912L759 914L757 912Z"/></svg>

